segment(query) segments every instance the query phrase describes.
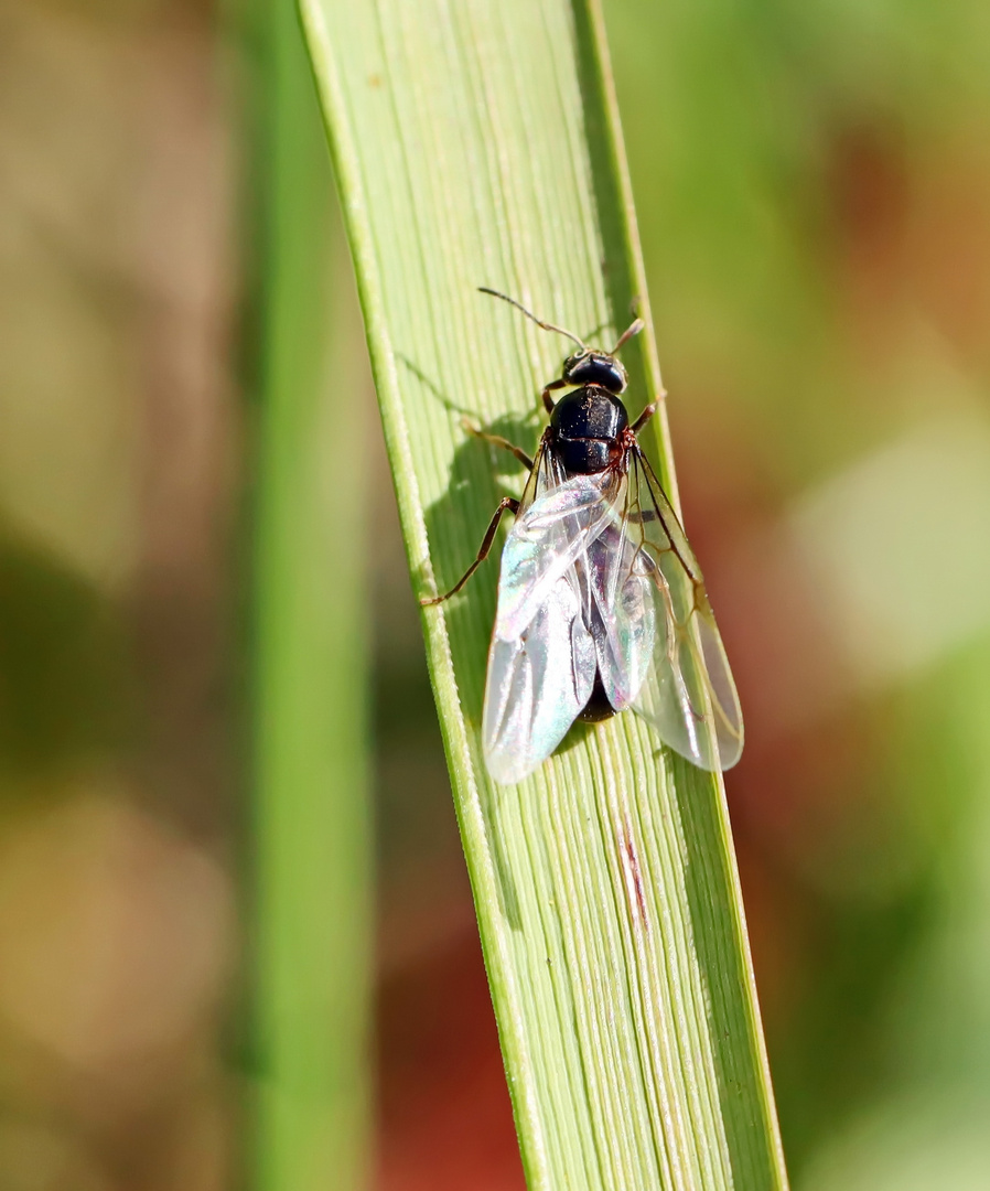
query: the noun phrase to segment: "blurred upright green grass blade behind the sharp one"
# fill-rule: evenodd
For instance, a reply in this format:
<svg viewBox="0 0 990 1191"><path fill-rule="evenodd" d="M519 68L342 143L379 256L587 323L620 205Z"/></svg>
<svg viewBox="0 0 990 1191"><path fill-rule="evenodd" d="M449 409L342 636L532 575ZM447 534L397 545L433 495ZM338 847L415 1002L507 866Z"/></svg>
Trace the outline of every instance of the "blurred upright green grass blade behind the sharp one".
<svg viewBox="0 0 990 1191"><path fill-rule="evenodd" d="M263 54L253 1176L259 1191L350 1191L371 1128L363 374L291 5L270 6Z"/></svg>

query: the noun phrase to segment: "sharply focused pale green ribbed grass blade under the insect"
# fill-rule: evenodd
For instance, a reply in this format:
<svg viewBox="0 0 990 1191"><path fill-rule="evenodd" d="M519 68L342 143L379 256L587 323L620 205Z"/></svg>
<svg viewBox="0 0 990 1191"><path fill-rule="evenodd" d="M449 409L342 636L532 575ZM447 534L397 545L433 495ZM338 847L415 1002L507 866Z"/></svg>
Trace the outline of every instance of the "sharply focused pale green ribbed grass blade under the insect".
<svg viewBox="0 0 990 1191"><path fill-rule="evenodd" d="M462 413L533 448L566 344L645 287L597 8L303 0L417 590L444 590L504 485ZM630 401L660 391L649 335ZM672 482L661 426L662 472ZM504 461L498 461L504 466ZM782 1187L721 782L623 715L497 788L478 728L497 567L424 612L530 1186Z"/></svg>

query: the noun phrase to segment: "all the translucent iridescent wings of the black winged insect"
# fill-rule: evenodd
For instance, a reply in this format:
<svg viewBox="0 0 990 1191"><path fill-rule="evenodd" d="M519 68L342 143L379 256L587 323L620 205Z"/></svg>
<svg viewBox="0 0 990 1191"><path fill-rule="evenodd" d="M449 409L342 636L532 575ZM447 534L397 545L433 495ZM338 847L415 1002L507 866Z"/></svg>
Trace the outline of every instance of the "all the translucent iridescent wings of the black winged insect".
<svg viewBox="0 0 990 1191"><path fill-rule="evenodd" d="M558 747L596 674L703 769L742 752L742 716L701 570L646 459L567 478L541 448L502 555L482 738L496 781Z"/></svg>

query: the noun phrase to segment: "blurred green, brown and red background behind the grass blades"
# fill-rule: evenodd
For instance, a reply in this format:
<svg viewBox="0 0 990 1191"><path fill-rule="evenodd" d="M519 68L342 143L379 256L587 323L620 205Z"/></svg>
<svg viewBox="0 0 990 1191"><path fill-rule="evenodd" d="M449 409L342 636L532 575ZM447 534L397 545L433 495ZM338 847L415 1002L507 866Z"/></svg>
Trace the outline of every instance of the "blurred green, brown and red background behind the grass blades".
<svg viewBox="0 0 990 1191"><path fill-rule="evenodd" d="M687 528L747 715L728 792L793 1183L984 1189L990 7L605 12ZM204 0L0 11L5 1191L242 1181L257 52ZM372 438L374 1185L509 1191L334 279Z"/></svg>

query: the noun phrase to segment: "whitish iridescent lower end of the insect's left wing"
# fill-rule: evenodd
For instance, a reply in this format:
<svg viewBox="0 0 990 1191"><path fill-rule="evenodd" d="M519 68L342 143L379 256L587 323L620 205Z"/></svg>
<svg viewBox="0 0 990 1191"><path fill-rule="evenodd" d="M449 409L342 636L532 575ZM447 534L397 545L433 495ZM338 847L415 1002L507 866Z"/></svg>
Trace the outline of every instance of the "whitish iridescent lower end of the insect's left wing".
<svg viewBox="0 0 990 1191"><path fill-rule="evenodd" d="M496 781L522 781L546 761L587 703L594 667L573 574L556 580L518 637L492 636L482 741Z"/></svg>

